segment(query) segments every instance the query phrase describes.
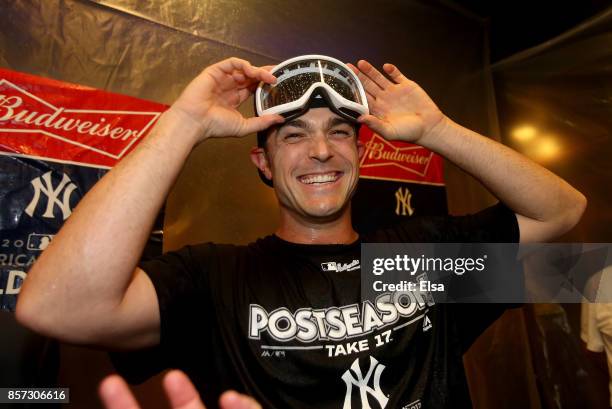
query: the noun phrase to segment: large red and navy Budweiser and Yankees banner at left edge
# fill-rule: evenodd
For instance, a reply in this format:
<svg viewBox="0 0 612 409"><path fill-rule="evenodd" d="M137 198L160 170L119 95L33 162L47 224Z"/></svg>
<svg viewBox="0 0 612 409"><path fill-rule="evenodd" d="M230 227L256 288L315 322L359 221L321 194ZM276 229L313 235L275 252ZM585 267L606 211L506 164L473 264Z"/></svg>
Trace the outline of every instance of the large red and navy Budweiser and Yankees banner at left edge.
<svg viewBox="0 0 612 409"><path fill-rule="evenodd" d="M0 69L0 309L107 169L166 106Z"/></svg>

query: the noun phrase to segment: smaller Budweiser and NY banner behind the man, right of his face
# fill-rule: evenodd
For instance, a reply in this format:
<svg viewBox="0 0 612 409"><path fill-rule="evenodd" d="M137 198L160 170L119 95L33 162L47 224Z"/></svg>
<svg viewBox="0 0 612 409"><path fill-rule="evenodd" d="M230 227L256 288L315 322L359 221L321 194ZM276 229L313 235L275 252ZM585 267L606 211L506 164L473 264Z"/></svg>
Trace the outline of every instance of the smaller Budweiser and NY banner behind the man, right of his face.
<svg viewBox="0 0 612 409"><path fill-rule="evenodd" d="M360 232L387 227L418 215L447 213L443 159L422 146L387 141L366 126L353 223Z"/></svg>

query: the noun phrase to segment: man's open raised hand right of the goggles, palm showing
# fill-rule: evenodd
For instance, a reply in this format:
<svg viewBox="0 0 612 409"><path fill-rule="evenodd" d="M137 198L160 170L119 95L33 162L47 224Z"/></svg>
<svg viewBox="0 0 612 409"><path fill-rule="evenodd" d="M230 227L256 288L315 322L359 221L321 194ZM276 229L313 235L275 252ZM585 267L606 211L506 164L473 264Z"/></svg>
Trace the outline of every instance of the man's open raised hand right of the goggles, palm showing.
<svg viewBox="0 0 612 409"><path fill-rule="evenodd" d="M348 65L361 80L370 107L370 115L362 115L359 122L384 138L422 143L444 122L446 117L429 95L393 64L383 65L388 77L364 60Z"/></svg>

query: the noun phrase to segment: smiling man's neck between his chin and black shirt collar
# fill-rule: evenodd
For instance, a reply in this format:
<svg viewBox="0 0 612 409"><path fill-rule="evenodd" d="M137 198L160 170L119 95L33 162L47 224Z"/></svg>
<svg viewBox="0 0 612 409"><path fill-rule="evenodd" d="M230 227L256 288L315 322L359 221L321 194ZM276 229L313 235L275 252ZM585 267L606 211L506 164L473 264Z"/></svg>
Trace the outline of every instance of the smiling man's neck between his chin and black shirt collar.
<svg viewBox="0 0 612 409"><path fill-rule="evenodd" d="M285 241L300 244L350 244L359 234L353 229L350 206L342 215L329 220L307 220L281 209L276 235Z"/></svg>

